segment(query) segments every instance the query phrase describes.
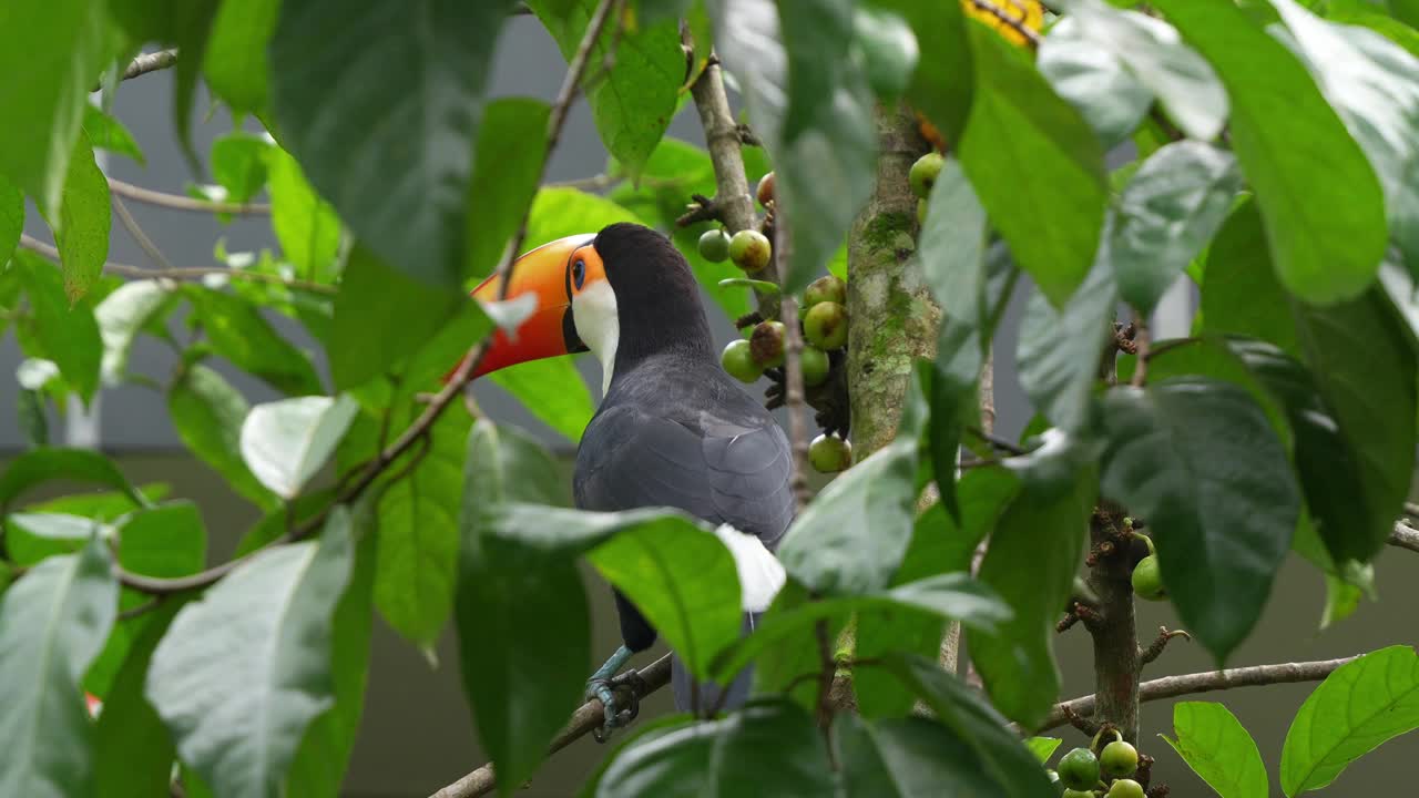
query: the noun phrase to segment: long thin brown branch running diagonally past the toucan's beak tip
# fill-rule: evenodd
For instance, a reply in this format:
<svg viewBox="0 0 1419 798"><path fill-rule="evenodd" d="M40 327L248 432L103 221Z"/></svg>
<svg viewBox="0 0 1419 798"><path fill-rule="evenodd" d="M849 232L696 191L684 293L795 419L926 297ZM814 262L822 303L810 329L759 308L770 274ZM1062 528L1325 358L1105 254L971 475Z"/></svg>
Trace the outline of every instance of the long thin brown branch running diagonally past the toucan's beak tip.
<svg viewBox="0 0 1419 798"><path fill-rule="evenodd" d="M587 54L590 53L596 38L600 35L602 28L606 26L606 20L610 16L609 14L610 7L614 4L614 1L616 0L602 0L600 4L597 4L596 11L592 14L590 23L587 23L586 34L582 37L582 43L576 48L576 55L572 57L572 61L566 68L566 80L562 82L562 89L558 92L556 104L552 106L552 114L548 118L546 145L545 145L548 155L551 155L552 151L556 148L556 142L562 135L562 126L566 124L566 112L572 105L572 99L575 99L576 97L576 87L580 82L583 71L586 70ZM542 159L542 175L538 179L539 183L541 179L546 176L548 160L551 160L551 158ZM502 291L499 293L499 300L507 298L508 285L512 284L511 280L512 268L517 266L517 253L522 247L522 240L526 237L528 214L531 213L531 210L532 210L531 204L522 210L522 222L518 224L517 236L512 239L511 244L504 251L502 261L498 264L497 273L502 275ZM345 490L342 490L331 504L325 505L325 508L322 508L314 517L307 518L304 523L294 525L288 532L285 532L277 540L277 544L295 542L315 534L325 523L325 518L326 515L331 514L332 508L335 508L339 504L349 504L356 498L359 498L360 494L365 493L365 490L368 490L372 484L375 484L375 480L377 480L380 474L385 473L385 470L387 470L396 460L399 460L403 454L406 454L414 446L414 443L424 439L429 434L430 427L433 427L434 422L438 420L438 416L441 416L443 412L447 410L450 405L453 405L454 399L457 399L463 393L463 389L468 385L468 382L473 381L473 375L474 372L477 372L478 365L482 362L484 355L487 355L488 344L491 341L492 337L490 335L485 337L482 341L474 344L473 348L468 349L468 354L458 364L458 368L454 371L453 376L450 376L448 381L444 383L443 389L440 389L438 393L436 393L433 399L429 400L429 406L424 408L424 412L420 413L419 417L414 419L414 422L409 425L409 427L404 429L404 432L400 433L400 436L394 439L393 443L382 449L379 454L376 454L375 459L372 459L369 464L365 466L363 471L360 471L358 477L350 480L350 483L345 487ZM228 572L231 572L233 568L244 562L253 554L255 552L251 552L245 557L240 557L237 559L230 559L227 562L223 562L221 565L209 568L199 574L176 579L159 579L153 576L145 576L142 574L133 574L131 571L126 571L122 567L115 567L115 572L118 575L119 582L123 584L125 586L150 595L169 595L169 594L179 594L192 589L206 588L207 585L211 585L217 579L226 576Z"/></svg>

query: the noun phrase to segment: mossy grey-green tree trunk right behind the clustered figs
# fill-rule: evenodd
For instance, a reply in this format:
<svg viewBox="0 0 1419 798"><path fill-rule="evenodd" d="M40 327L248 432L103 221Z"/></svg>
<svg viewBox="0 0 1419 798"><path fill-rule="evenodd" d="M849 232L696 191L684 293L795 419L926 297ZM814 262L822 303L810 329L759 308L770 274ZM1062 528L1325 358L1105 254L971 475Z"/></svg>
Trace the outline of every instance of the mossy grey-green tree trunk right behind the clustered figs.
<svg viewBox="0 0 1419 798"><path fill-rule="evenodd" d="M934 358L941 310L917 258L911 165L927 152L907 108L877 108L877 187L847 239L847 388L861 460L897 434L912 361Z"/></svg>

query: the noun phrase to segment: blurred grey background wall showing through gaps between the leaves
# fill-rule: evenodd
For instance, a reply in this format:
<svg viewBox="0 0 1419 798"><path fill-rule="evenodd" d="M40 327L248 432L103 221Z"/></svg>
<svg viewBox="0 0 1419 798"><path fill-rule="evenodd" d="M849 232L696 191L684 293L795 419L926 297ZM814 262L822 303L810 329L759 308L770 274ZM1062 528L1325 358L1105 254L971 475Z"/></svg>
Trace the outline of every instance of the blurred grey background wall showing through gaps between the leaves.
<svg viewBox="0 0 1419 798"><path fill-rule="evenodd" d="M561 84L563 65L556 47L535 20L514 18L499 44L497 72L492 81L494 92L552 99ZM123 84L115 101L115 111L146 152L148 166L142 168L128 159L112 158L109 159L111 175L173 193L180 193L184 183L193 179L173 139L170 91L170 72L158 72ZM194 126L199 152L206 152L210 141L230 128L231 119L221 109L217 109L210 119L201 119ZM698 119L692 109L687 109L673 122L670 135L697 143L702 142ZM568 121L566 132L551 163L549 179L568 180L596 175L603 169L604 162L604 151L596 136L590 114L585 102L579 102ZM223 226L206 214L165 210L133 202L128 204L139 223L177 266L211 264L211 246L217 237L224 237L228 248L233 250L274 247L267 222L260 217L238 219ZM1042 220L1042 223L1047 222ZM33 213L33 209L27 231L40 239L48 239L48 231L38 223L38 216ZM142 250L116 220L109 257L121 263L146 263ZM1186 302L1183 302L1185 305ZM998 341L1000 355L996 358L996 400L999 426L1005 434L1016 434L1029 419L1029 406L1012 369L1015 324L1020 310L1022 297L1017 295ZM722 344L728 341L731 329L727 322L721 322L715 334ZM307 346L315 349L308 338L304 341ZM20 446L20 434L13 422L16 417L14 382L9 376L14 372L18 361L20 352L14 337L6 335L0 339L0 419L6 419L0 423L0 453L13 453ZM133 352L132 365L136 371L162 378L170 372L173 355L152 339L140 339ZM599 366L592 359L583 358L580 368L589 378L593 396L597 395ZM228 371L227 376L253 402L275 398L265 386L244 375ZM558 439L531 419L495 386L480 385L478 399L494 417L524 425L542 434L553 446L566 449L565 440ZM99 402L98 420L101 447L119 459L129 477L139 483L170 483L175 496L196 500L203 508L213 535L211 557L217 559L230 554L237 535L255 518L255 514L234 497L221 480L182 452L167 420L162 396L138 386L105 390ZM51 429L62 436L62 427L51 425ZM1293 558L1280 574L1271 603L1257 632L1229 665L1328 659L1392 643L1415 643L1419 635L1416 635L1416 622L1410 609L1419 603L1419 586L1413 578L1419 561L1413 557L1408 552L1386 551L1376 564L1384 603L1365 603L1354 618L1324 632L1317 630L1317 619L1324 603L1321 578ZM597 599L596 649L599 655L602 652L610 653L619 645L614 613L607 591L590 576L589 584ZM1156 629L1159 625L1178 628L1179 622L1171 608L1165 605L1141 605L1141 633ZM376 621L365 721L346 781L346 794L352 798L427 795L485 760L474 738L468 710L458 686L457 653L451 645L451 635L444 636L438 650L440 665L430 667L421 655ZM1091 693L1091 652L1087 633L1076 628L1076 630L1063 635L1059 656L1064 669L1066 696ZM648 663L650 659L650 656L643 657L641 665ZM1176 642L1161 660L1149 667L1145 677L1210 667L1215 667L1215 663L1200 647ZM1280 795L1280 788L1274 782L1281 740L1290 718L1311 687L1310 684L1277 686L1195 699L1223 697L1226 700L1242 723L1256 736L1261 755L1271 772L1273 795ZM1171 701L1159 701L1145 707L1142 750L1159 760L1155 772L1172 784L1172 795L1208 795L1210 792L1206 787L1186 772L1179 758L1164 743L1152 737L1156 733L1171 733L1169 704ZM667 697L657 696L647 704L646 711L654 714L666 709ZM1080 736L1071 730L1064 730L1063 736L1066 745L1081 743ZM606 750L590 738L576 743L552 760L532 788L524 794L572 795L580 778ZM1364 760L1324 794L1358 795L1365 794L1366 789L1388 789L1386 794L1401 794L1396 789L1412 784L1409 774L1416 757L1419 757L1419 736L1410 734Z"/></svg>

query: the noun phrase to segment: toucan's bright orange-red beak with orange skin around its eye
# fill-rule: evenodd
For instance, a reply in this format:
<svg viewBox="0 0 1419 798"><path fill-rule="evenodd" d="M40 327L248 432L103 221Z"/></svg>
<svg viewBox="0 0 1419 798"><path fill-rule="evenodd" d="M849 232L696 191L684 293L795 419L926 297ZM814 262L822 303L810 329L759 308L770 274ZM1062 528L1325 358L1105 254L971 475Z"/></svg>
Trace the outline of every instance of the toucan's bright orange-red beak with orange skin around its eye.
<svg viewBox="0 0 1419 798"><path fill-rule="evenodd" d="M475 378L528 361L585 352L572 318L572 297L585 281L604 278L602 260L592 247L593 234L568 236L524 254L512 264L512 284L502 295L502 278L488 277L473 290L481 302L517 300L532 294L536 310L512 334L494 332L492 345L474 371Z"/></svg>

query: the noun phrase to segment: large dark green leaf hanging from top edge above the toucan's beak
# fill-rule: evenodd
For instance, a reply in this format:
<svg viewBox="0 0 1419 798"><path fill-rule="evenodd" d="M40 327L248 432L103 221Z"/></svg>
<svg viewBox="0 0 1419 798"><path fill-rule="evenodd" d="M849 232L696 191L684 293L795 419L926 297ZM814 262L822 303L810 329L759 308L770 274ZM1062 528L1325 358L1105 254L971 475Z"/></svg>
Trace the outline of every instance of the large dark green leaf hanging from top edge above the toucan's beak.
<svg viewBox="0 0 1419 798"><path fill-rule="evenodd" d="M281 4L270 57L282 142L360 240L430 285L465 277L473 136L511 9Z"/></svg>

